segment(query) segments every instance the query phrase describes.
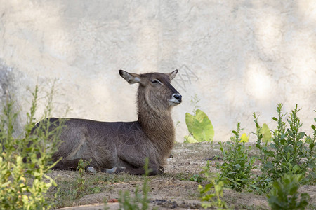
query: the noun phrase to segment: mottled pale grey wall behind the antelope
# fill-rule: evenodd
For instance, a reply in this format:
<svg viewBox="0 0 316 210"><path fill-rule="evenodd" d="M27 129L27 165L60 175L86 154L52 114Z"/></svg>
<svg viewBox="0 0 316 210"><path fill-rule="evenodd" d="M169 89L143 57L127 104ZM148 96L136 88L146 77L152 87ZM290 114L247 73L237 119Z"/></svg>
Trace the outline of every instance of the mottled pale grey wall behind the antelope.
<svg viewBox="0 0 316 210"><path fill-rule="evenodd" d="M136 85L119 69L179 69L173 85L177 139L197 94L216 140L237 121L254 131L252 112L272 124L278 102L295 104L308 129L316 109L316 1L29 1L0 0L0 59L22 113L27 87L58 78L58 110L67 117L136 120ZM6 71L3 68L1 71ZM4 73L0 74L1 76ZM1 83L3 79L1 78ZM25 118L21 118L25 120Z"/></svg>

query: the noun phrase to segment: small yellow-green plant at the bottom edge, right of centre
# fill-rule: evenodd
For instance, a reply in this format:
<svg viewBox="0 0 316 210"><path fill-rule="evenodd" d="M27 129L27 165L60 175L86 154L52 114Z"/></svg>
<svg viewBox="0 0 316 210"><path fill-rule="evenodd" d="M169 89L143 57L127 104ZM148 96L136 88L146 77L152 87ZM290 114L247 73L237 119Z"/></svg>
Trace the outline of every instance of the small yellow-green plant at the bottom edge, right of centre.
<svg viewBox="0 0 316 210"><path fill-rule="evenodd" d="M225 201L223 200L223 189L224 189L224 182L219 181L216 183L215 179L211 177L209 173L209 161L206 163L206 167L203 168L202 174L206 176L206 183L205 186L199 185L199 195L200 199L202 200L202 207L207 209L210 207L215 207L216 209L228 209Z"/></svg>

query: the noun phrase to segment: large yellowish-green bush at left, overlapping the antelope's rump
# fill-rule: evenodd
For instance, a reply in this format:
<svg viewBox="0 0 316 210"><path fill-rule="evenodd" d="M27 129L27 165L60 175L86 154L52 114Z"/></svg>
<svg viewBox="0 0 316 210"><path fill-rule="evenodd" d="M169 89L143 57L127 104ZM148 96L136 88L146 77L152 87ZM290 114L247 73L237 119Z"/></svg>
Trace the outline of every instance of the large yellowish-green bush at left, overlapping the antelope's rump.
<svg viewBox="0 0 316 210"><path fill-rule="evenodd" d="M53 109L53 88L46 97L44 118ZM46 173L58 162L51 162L51 157L58 146L63 123L46 118L45 125L33 129L38 92L36 87L23 134L15 134L18 113L13 110L13 102L6 102L0 116L0 209L51 209L53 206L47 201L46 193L56 183ZM50 125L53 128L48 129Z"/></svg>

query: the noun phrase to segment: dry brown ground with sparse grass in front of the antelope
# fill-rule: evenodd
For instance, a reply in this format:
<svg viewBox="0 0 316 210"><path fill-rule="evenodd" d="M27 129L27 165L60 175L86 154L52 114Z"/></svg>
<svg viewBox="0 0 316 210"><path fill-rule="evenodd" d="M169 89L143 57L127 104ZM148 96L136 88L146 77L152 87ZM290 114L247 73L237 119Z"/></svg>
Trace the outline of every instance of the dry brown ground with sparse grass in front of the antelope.
<svg viewBox="0 0 316 210"><path fill-rule="evenodd" d="M190 181L193 175L199 174L201 167L209 158L219 155L220 150L209 144L176 144L173 158L168 159L165 174L150 177L150 207L159 209L202 209L197 186L199 183ZM216 162L211 161L211 170L217 172ZM256 171L254 171L256 173ZM76 195L78 172L53 171L51 174L57 181L60 190L58 197L52 198L57 207L66 209L103 209L105 200L119 197L119 191L128 190L133 196L136 186L143 185L142 176L128 174L109 175L103 173L86 174L86 189ZM51 193L55 193L53 189ZM302 192L310 194L311 208L316 207L316 186L303 186ZM269 209L265 195L238 193L234 190L224 190L224 200L232 209ZM79 205L94 204L84 207ZM117 209L119 204L109 203L110 209Z"/></svg>

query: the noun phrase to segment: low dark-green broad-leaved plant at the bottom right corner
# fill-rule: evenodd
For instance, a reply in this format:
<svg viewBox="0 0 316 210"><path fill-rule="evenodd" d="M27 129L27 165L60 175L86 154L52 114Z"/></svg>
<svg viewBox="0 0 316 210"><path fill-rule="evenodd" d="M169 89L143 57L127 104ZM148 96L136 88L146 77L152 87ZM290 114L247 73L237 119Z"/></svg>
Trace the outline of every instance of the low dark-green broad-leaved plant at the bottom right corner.
<svg viewBox="0 0 316 210"><path fill-rule="evenodd" d="M298 193L302 174L284 174L275 181L268 197L271 209L305 209L310 196L308 193Z"/></svg>

